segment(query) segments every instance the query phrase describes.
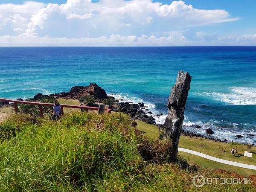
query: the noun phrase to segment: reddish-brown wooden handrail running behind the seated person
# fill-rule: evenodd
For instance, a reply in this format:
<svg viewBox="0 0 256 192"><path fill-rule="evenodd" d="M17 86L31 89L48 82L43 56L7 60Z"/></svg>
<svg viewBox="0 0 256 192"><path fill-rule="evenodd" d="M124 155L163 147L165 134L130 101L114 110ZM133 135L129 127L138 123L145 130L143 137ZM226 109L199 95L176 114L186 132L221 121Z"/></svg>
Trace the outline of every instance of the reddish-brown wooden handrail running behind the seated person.
<svg viewBox="0 0 256 192"><path fill-rule="evenodd" d="M16 107L17 107L17 103L26 104L26 105L38 105L39 107L41 107L41 106L50 106L51 107L51 106L54 105L53 103L27 102L27 101L19 101L19 100L14 100L14 99L5 99L5 98L0 98L0 101L13 102L16 105ZM61 107L62 108L85 109L85 110L93 110L93 111L98 111L99 110L99 108L97 108L97 107L79 106L79 105L61 104ZM111 109L105 109L105 113L111 113Z"/></svg>

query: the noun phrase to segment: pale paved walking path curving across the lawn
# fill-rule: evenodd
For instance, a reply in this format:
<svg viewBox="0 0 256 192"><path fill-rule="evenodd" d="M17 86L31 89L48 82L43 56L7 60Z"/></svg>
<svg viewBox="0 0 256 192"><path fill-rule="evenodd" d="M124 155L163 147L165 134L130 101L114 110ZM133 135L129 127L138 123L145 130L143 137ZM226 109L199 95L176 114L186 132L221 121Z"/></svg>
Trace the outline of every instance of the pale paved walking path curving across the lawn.
<svg viewBox="0 0 256 192"><path fill-rule="evenodd" d="M179 151L194 154L194 155L197 155L199 157L204 157L206 159L216 161L218 163L224 163L224 164L231 165L231 166L237 166L237 167L256 170L256 166L254 166L254 165L248 165L248 164L244 164L244 163L237 163L237 162L234 162L234 161L223 160L223 159L219 159L219 158L216 158L216 157L209 156L207 154L199 153L197 151L192 151L192 150L189 150L189 149L186 149L186 148L180 148L179 147Z"/></svg>

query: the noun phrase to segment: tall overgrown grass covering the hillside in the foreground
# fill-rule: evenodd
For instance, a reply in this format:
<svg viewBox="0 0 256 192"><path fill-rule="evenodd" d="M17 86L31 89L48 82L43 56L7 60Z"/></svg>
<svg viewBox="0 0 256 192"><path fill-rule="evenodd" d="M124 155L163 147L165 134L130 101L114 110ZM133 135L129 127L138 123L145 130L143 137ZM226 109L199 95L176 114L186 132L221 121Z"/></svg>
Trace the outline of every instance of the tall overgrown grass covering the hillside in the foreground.
<svg viewBox="0 0 256 192"><path fill-rule="evenodd" d="M58 122L23 114L0 123L0 191L250 191L252 185L192 185L225 177L179 160L122 114L70 113Z"/></svg>

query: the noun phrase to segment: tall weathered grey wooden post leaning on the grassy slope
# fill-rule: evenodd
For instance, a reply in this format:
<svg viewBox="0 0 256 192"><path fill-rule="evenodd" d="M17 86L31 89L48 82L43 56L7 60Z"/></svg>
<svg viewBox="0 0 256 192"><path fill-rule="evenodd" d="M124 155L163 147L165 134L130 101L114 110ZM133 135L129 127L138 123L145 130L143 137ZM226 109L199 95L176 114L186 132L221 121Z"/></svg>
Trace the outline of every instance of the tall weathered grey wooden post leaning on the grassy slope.
<svg viewBox="0 0 256 192"><path fill-rule="evenodd" d="M167 102L169 113L165 120L165 137L172 142L171 157L173 161L177 161L178 145L191 79L189 73L178 72L176 83L172 87Z"/></svg>

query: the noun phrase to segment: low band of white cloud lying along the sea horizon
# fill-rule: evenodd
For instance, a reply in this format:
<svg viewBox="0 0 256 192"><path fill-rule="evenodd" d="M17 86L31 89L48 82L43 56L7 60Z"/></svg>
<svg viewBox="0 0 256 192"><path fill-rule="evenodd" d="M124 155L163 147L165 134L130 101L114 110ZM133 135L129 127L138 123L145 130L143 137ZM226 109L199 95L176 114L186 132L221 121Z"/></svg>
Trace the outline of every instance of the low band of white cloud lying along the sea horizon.
<svg viewBox="0 0 256 192"><path fill-rule="evenodd" d="M203 45L256 45L256 34L242 36L218 37L215 34L205 37L196 36L196 41L191 41L179 35L156 37L154 35L111 35L97 38L50 38L49 36L38 37L28 34L19 36L2 35L2 46L203 46Z"/></svg>

